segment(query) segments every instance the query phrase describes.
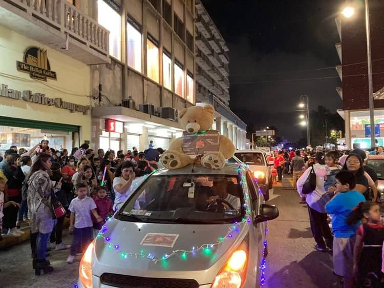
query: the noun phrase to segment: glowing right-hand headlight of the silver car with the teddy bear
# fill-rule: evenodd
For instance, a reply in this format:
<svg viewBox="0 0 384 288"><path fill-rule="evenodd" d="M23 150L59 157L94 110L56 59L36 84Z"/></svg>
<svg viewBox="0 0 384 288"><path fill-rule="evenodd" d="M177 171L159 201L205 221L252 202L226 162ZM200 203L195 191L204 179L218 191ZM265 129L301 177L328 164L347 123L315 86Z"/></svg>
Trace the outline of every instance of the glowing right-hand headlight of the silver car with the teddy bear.
<svg viewBox="0 0 384 288"><path fill-rule="evenodd" d="M248 249L246 249L245 245L241 245L238 250L233 252L216 276L211 288L243 287L247 270L247 253Z"/></svg>

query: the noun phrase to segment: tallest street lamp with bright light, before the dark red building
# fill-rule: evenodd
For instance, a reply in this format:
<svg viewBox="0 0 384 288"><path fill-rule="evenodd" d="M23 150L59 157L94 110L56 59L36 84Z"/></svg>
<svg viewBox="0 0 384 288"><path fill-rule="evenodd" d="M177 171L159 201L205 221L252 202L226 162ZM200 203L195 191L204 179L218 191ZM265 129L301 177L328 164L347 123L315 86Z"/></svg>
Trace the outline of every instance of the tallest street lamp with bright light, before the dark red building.
<svg viewBox="0 0 384 288"><path fill-rule="evenodd" d="M342 14L346 18L353 16L355 9L353 7L346 7ZM369 4L365 0L365 22L367 34L367 61L368 61L368 93L369 93L369 118L371 126L371 147L375 147L375 110L373 103L373 83L372 83L372 54L371 54L371 29L369 21Z"/></svg>

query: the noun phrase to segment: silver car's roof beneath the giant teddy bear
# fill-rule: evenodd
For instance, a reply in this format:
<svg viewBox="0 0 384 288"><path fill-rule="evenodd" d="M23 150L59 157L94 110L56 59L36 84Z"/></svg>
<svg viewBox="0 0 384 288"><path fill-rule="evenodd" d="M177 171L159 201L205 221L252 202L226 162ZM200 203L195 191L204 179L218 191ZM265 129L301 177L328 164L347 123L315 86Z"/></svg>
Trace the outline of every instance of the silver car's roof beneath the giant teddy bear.
<svg viewBox="0 0 384 288"><path fill-rule="evenodd" d="M239 174L239 164L232 164L232 163L226 163L225 166L222 169L208 169L200 164L196 164L194 167L194 172L192 172L193 164L189 164L188 166L185 166L180 169L175 170L167 170L167 169L160 169L156 171L153 175L185 175L185 174L191 174L191 175L238 175Z"/></svg>

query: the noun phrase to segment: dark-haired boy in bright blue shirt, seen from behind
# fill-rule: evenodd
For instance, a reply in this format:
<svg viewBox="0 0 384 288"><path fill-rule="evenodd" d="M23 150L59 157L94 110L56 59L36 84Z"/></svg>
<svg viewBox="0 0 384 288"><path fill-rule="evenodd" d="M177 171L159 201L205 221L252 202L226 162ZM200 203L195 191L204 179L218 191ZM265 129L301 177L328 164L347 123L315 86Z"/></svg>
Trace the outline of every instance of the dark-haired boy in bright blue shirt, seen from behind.
<svg viewBox="0 0 384 288"><path fill-rule="evenodd" d="M353 279L353 246L356 240L358 223L349 225L347 217L352 209L364 196L353 190L356 186L355 175L350 171L340 171L336 174L336 190L334 196L326 205L327 213L332 216L333 238L333 270L344 279L344 288L354 286Z"/></svg>

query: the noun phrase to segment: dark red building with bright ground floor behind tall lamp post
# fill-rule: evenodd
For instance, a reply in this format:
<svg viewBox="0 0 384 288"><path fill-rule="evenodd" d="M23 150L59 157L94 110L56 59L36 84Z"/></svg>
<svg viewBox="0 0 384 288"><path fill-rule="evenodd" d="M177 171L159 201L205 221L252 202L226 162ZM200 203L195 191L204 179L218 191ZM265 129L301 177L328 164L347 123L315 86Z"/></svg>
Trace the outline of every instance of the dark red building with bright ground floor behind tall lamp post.
<svg viewBox="0 0 384 288"><path fill-rule="evenodd" d="M384 3L372 0L370 4L370 31L372 76L375 108L375 135L378 145L384 145L384 32L381 29ZM336 90L343 99L338 113L345 120L345 139L349 148L370 148L367 40L364 5L353 17L336 18L340 43L336 50L341 65L336 70L342 87Z"/></svg>

